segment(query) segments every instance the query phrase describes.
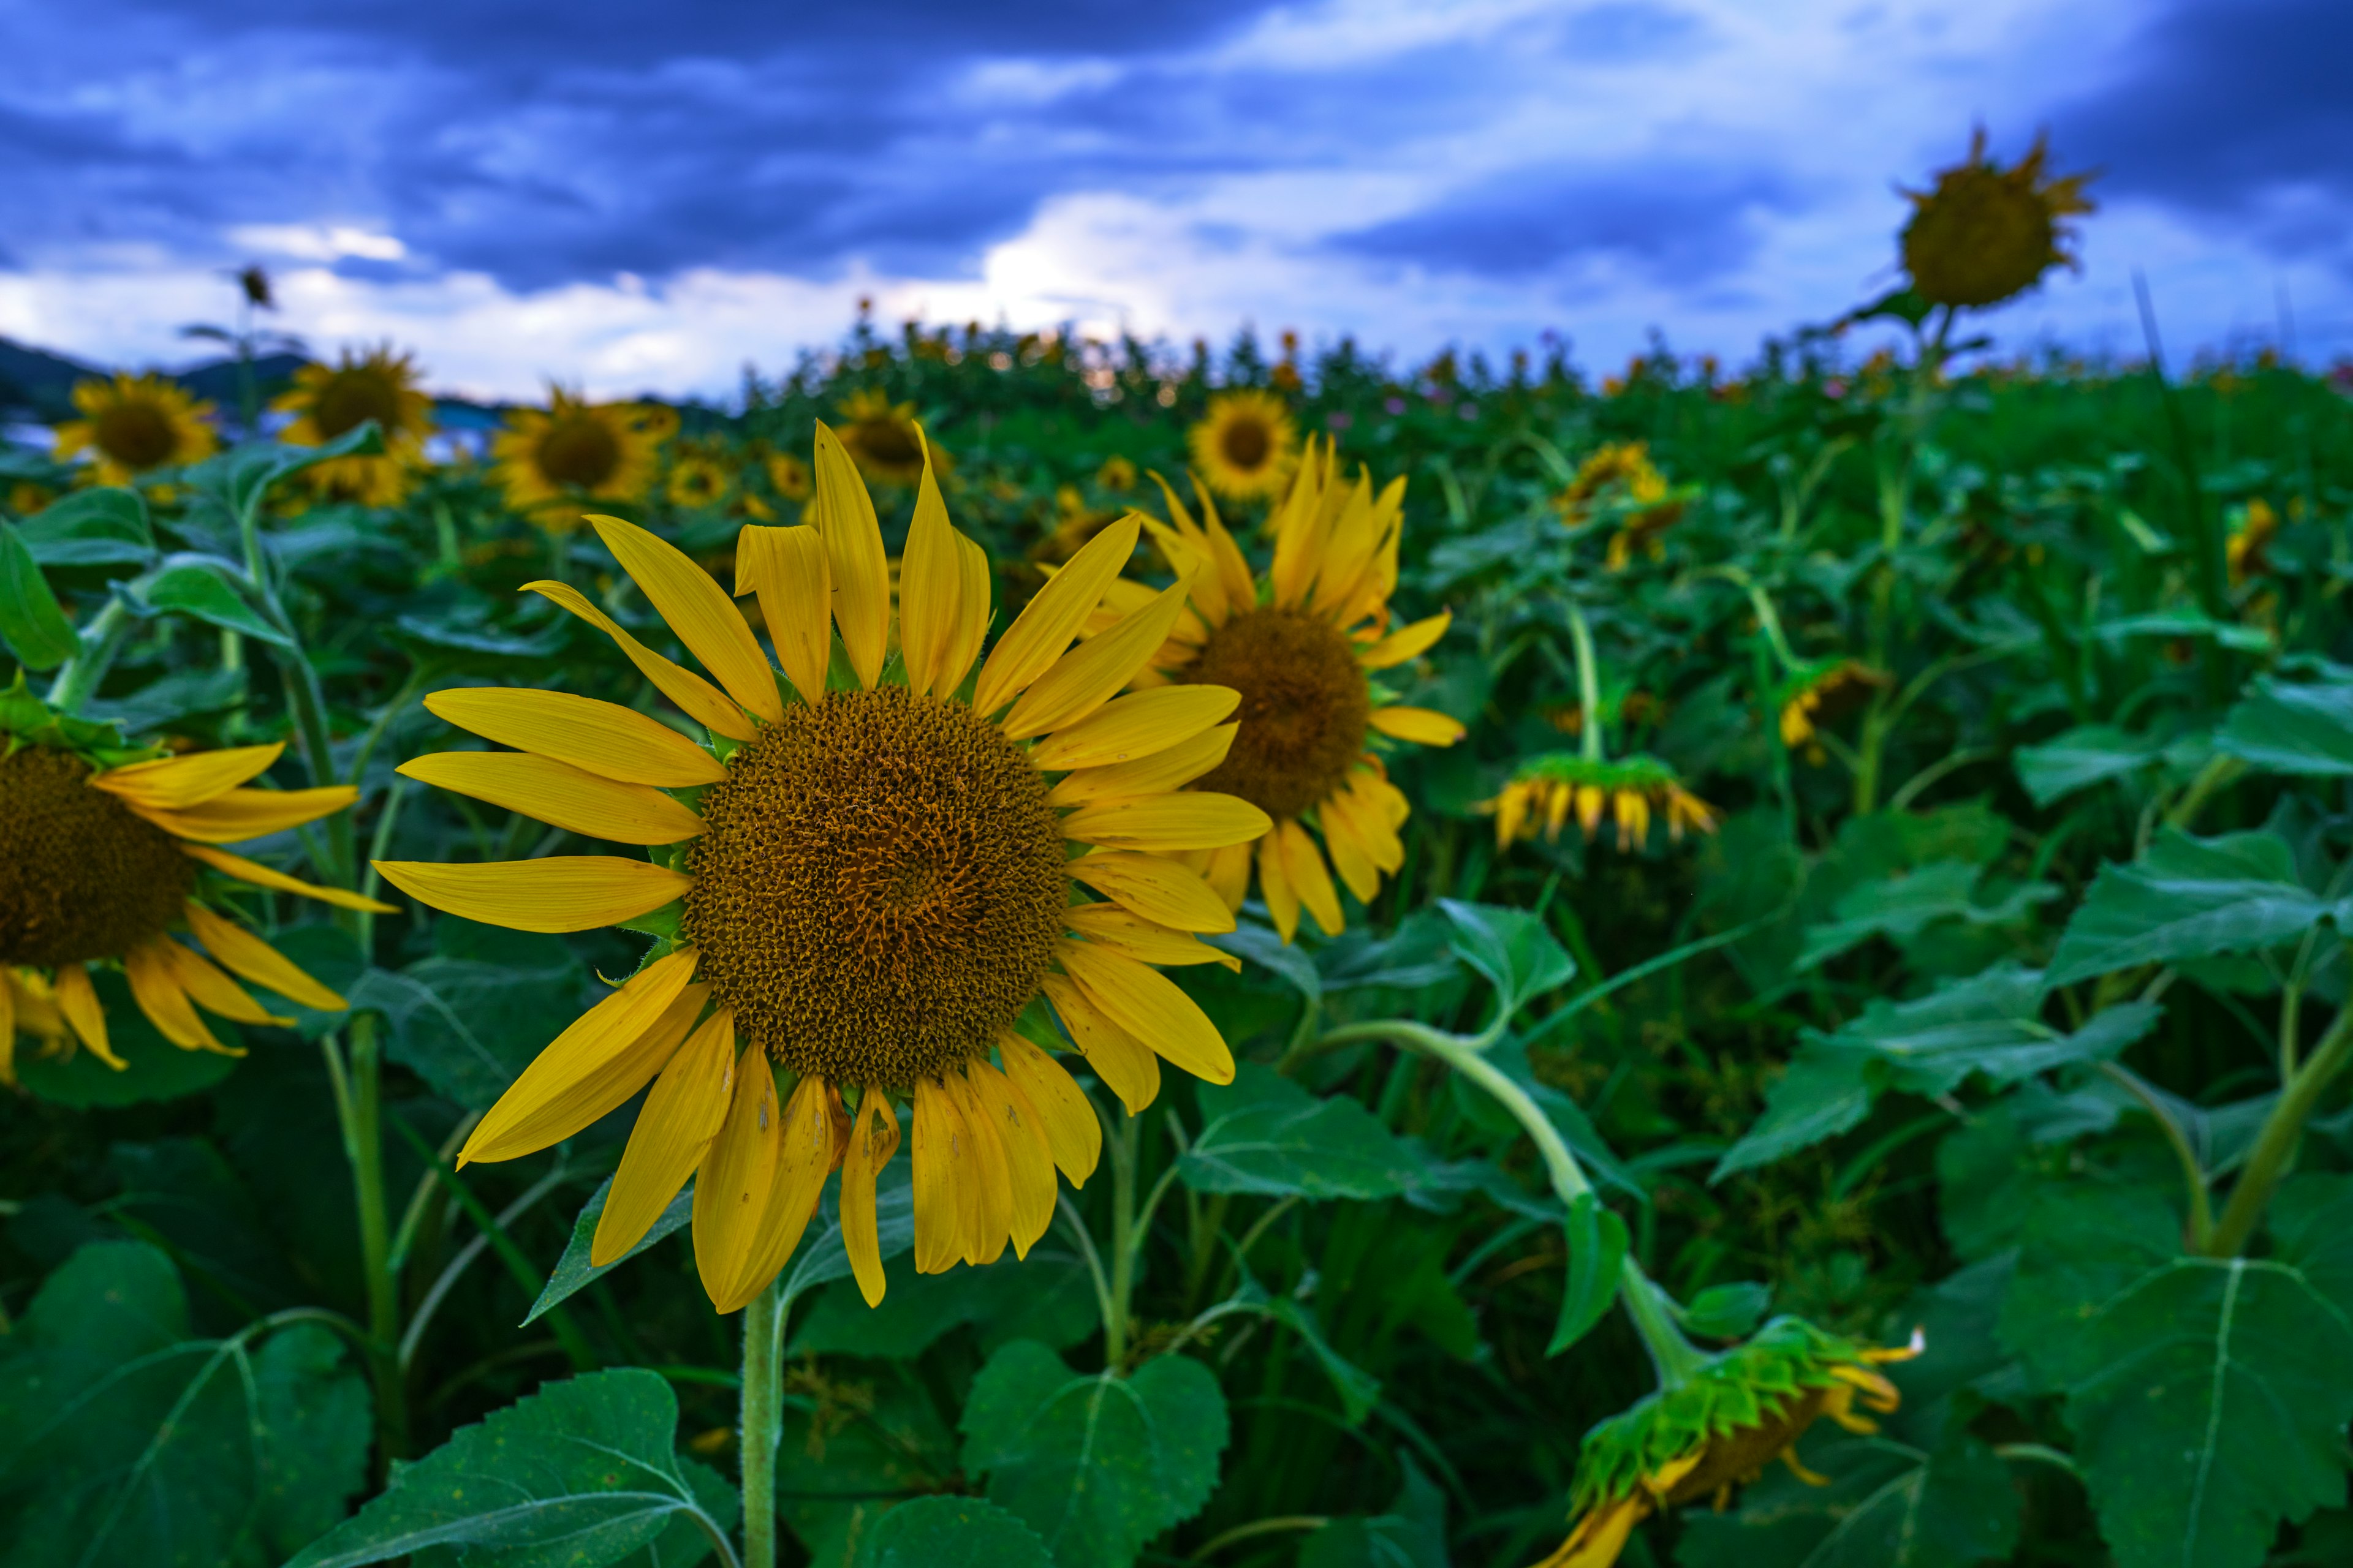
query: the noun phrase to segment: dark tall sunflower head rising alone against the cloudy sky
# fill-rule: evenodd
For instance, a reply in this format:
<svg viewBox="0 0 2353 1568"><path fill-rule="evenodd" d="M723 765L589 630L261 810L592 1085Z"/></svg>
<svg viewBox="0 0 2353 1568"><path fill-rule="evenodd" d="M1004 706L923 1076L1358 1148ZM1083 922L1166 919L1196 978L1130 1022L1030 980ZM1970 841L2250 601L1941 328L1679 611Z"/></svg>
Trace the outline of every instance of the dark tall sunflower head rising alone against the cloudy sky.
<svg viewBox="0 0 2353 1568"><path fill-rule="evenodd" d="M1904 270L1932 306L1981 308L2024 294L2054 266L2078 266L2068 216L2092 212L2089 174L2052 179L2042 136L2007 169L1986 158L1986 129L1969 155L1937 172L1927 190L1906 190Z"/></svg>

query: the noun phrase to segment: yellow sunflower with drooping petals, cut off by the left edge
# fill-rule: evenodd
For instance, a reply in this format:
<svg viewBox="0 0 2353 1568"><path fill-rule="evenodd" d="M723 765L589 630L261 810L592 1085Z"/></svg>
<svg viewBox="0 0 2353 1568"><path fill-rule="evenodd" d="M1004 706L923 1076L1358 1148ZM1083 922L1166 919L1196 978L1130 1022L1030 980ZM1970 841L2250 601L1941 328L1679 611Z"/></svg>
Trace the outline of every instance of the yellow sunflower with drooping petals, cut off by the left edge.
<svg viewBox="0 0 2353 1568"><path fill-rule="evenodd" d="M296 882L221 844L313 823L358 790L247 790L282 745L172 757L125 748L111 724L52 712L24 689L0 693L0 1081L14 1081L16 1032L52 1051L78 1039L108 1067L94 964L120 964L139 1011L174 1046L231 1051L198 1009L233 1023L273 1018L226 971L289 1001L344 999L224 910L221 879L351 910L388 905ZM174 938L186 931L202 947ZM233 1053L233 1051L231 1051Z"/></svg>

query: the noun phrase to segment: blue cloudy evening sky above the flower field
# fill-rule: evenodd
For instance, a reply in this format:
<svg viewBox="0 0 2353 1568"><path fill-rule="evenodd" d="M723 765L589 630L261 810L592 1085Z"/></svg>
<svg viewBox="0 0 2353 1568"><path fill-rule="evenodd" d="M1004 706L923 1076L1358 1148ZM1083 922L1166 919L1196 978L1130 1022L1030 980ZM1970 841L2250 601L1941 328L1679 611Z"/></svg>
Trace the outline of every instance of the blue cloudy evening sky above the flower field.
<svg viewBox="0 0 2353 1568"><path fill-rule="evenodd" d="M2099 167L2005 343L2353 353L2341 0L0 0L0 334L174 362L261 261L435 386L725 393L885 320L1746 360L1988 125Z"/></svg>

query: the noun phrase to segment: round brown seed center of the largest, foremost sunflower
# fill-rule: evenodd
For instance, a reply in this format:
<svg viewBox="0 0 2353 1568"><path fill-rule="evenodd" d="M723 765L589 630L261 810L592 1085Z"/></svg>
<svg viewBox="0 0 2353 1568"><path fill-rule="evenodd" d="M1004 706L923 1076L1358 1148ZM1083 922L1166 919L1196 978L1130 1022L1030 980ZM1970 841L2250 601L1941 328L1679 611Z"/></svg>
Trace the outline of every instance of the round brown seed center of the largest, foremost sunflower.
<svg viewBox="0 0 2353 1568"><path fill-rule="evenodd" d="M711 999L795 1072L913 1086L984 1053L1054 959L1047 785L960 703L833 691L727 759L687 856Z"/></svg>

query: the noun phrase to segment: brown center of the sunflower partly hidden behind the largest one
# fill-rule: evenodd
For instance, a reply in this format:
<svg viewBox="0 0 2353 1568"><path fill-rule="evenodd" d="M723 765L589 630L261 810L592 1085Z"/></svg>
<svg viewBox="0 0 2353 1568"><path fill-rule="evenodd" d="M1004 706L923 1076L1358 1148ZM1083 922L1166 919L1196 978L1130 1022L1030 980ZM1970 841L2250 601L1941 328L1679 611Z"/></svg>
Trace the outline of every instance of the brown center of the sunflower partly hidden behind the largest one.
<svg viewBox="0 0 2353 1568"><path fill-rule="evenodd" d="M1337 625L1297 609L1247 609L1209 632L1186 679L1233 686L1242 729L1202 790L1299 816L1348 778L1365 750L1372 693Z"/></svg>

